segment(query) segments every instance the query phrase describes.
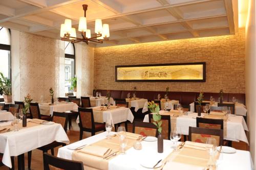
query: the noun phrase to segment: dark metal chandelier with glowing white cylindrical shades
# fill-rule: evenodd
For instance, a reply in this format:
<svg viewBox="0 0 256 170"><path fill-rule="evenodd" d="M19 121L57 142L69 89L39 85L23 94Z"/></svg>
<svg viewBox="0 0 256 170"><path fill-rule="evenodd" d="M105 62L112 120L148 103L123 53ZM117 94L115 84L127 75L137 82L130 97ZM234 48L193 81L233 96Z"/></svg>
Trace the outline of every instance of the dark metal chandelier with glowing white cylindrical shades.
<svg viewBox="0 0 256 170"><path fill-rule="evenodd" d="M109 25L104 23L102 25L101 19L95 20L95 33L96 36L91 37L91 30L87 29L86 11L88 5L82 5L84 11L84 17L79 18L78 31L81 32L82 38L76 37L76 29L72 28L71 19L65 19L65 23L60 26L60 37L63 41L70 41L71 43L86 42L89 41L103 43L103 40L109 40L110 30Z"/></svg>

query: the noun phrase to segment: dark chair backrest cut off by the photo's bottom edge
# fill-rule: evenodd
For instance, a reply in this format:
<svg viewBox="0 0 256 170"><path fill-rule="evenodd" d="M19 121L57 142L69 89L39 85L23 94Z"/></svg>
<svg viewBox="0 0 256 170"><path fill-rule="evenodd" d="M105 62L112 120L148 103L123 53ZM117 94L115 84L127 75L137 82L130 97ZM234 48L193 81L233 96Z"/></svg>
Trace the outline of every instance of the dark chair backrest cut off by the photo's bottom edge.
<svg viewBox="0 0 256 170"><path fill-rule="evenodd" d="M73 169L83 170L83 164L79 161L72 161L67 159L58 158L48 153L44 153L44 170L50 170L52 167L55 169ZM54 169L54 168L53 168Z"/></svg>

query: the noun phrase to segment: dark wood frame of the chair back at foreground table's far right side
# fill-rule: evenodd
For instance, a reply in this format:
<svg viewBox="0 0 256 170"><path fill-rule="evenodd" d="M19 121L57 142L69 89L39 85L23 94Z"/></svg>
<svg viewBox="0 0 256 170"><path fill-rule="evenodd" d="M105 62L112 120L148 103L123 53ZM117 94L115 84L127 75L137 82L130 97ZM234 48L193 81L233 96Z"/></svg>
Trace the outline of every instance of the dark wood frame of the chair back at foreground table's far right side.
<svg viewBox="0 0 256 170"><path fill-rule="evenodd" d="M219 144L223 145L223 130L222 129L207 129L207 128L189 127L189 129L188 129L188 140L189 141L191 141L192 133L220 136Z"/></svg>

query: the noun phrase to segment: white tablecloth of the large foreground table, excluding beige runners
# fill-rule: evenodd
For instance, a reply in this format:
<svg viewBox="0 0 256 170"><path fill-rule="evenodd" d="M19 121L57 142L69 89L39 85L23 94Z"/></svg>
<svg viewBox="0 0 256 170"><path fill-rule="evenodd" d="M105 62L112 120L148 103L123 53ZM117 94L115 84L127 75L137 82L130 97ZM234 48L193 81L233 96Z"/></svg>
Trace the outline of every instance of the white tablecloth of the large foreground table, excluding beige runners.
<svg viewBox="0 0 256 170"><path fill-rule="evenodd" d="M111 132L111 135L115 132ZM83 145L83 144L91 144L96 141L99 141L105 138L106 132L97 134L95 136L77 141L70 145ZM144 168L140 165L143 160L155 160L156 162L160 159L166 158L173 149L170 148L171 142L170 140L164 140L164 152L159 154L157 152L157 141L155 142L146 142L142 141L142 150L135 150L134 148L130 148L126 151L124 155L118 155L115 158L109 161L109 170L130 170L130 169L141 169L146 170L148 168ZM61 147L58 150L58 157L72 160L72 152L73 150L68 149L70 145L65 147ZM236 162L234 162L236 161ZM248 151L237 150L235 154L223 154L223 163L220 165L219 170L241 170L241 169L253 169L251 156ZM164 169L172 169L170 167L164 167Z"/></svg>

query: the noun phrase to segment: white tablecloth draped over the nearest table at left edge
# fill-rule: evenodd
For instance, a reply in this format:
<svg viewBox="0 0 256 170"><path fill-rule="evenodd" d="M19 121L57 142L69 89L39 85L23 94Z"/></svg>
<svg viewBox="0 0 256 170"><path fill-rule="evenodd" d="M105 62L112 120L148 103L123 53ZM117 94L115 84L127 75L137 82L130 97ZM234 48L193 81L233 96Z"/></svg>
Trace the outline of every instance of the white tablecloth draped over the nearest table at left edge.
<svg viewBox="0 0 256 170"><path fill-rule="evenodd" d="M6 126L6 124L0 124L0 126ZM69 143L69 138L60 124L38 125L20 129L17 132L1 133L0 153L4 153L3 163L11 168L11 156L24 154L55 140Z"/></svg>

